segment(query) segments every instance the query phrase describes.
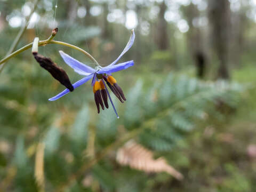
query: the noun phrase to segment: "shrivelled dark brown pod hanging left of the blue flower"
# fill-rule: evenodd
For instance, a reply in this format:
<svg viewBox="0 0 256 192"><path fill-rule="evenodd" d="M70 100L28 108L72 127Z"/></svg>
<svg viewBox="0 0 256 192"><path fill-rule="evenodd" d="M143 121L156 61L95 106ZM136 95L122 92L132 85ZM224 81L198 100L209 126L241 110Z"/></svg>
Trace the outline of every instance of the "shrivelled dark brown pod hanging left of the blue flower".
<svg viewBox="0 0 256 192"><path fill-rule="evenodd" d="M59 67L56 63L54 63L50 58L44 57L37 52L34 52L34 57L39 63L41 67L45 70L49 71L49 73L57 79L62 85L66 86L69 91L73 91L74 87L70 83L68 75L66 74L65 70Z"/></svg>

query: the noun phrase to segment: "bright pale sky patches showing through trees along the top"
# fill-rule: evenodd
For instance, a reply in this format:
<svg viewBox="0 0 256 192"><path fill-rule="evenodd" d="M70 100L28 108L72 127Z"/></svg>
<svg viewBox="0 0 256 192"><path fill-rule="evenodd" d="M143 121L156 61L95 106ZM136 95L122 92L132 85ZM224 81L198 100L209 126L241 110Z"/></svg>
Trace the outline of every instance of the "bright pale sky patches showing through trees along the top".
<svg viewBox="0 0 256 192"><path fill-rule="evenodd" d="M102 0L94 0L92 2L96 2L99 3L98 5L93 5L90 8L90 14L93 17L98 17L100 14L102 14L102 6L101 3L105 2ZM159 7L158 6L153 6L154 2L158 2L161 3L163 1L161 0L151 0L151 1L147 1L146 5L150 7L149 13L148 13L148 18L149 19L154 19L157 17L157 14L159 12ZM239 11L239 9L241 8L241 1L239 0L229 0L230 2L230 9L232 11ZM61 3L61 2L60 2ZM109 1L108 3L115 3L115 1ZM115 6L109 6L109 13L107 15L107 20L108 22L117 22L117 23L121 23L122 25L124 25L127 29L133 29L136 28L138 25L138 15L136 13L136 11L134 10L134 5L135 4L145 4L145 1L143 0L130 0L128 1L128 3L133 3L133 6L130 5L130 7L128 6L128 10L126 10L126 12L124 12L124 10L122 9L118 9ZM186 33L189 30L189 26L188 23L185 19L182 18L182 15L179 11L180 6L188 6L190 3L193 3L197 6L199 11L204 11L207 9L207 3L204 0L173 0L173 1L165 1L166 5L167 5L167 10L165 12L164 18L167 22L173 22L175 23L175 25L178 27L179 31L181 33ZM244 2L243 2L244 3ZM55 14L55 2L51 2L49 0L44 0L44 9L49 11L49 13L47 13L47 18L51 18L49 15L53 15L52 16L52 20L54 18L54 14ZM250 0L249 4L253 7L250 11L248 11L246 13L247 17L253 19L254 21L256 21L256 0ZM10 13L9 15L7 15L7 21L9 21L9 25L13 28L18 28L22 25L22 22L24 21L24 17L27 17L29 15L29 13L31 12L31 4L30 3L26 3L25 5L22 6L21 10L14 10L12 13ZM115 7L115 8L113 8ZM58 14L58 9L57 9L57 14ZM86 9L84 6L79 6L77 9L77 17L78 18L84 18L86 16ZM57 21L46 21L45 19L42 19L40 17L40 15L38 15L37 13L34 13L32 18L30 19L30 24L28 26L28 28L34 28L35 27L35 23L37 23L38 21L45 21L49 23L49 28L52 28L54 26L58 25L58 20ZM195 20L193 22L193 25L195 25L195 27L203 27L207 25L207 18L206 17L201 17L201 18L197 18L197 20ZM145 31L145 28L142 29ZM147 35L147 33L142 33L142 35Z"/></svg>

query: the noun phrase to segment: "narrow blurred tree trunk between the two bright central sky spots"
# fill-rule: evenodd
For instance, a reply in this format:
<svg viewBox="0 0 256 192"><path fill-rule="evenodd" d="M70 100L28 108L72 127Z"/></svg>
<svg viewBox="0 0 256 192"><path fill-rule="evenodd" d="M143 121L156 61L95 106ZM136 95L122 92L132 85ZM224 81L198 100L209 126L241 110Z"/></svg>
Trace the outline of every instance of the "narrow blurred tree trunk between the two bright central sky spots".
<svg viewBox="0 0 256 192"><path fill-rule="evenodd" d="M159 6L160 11L157 20L157 36L156 43L159 50L167 50L169 46L169 39L167 34L167 21L164 19L164 13L167 9L165 2Z"/></svg>

